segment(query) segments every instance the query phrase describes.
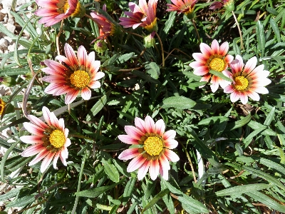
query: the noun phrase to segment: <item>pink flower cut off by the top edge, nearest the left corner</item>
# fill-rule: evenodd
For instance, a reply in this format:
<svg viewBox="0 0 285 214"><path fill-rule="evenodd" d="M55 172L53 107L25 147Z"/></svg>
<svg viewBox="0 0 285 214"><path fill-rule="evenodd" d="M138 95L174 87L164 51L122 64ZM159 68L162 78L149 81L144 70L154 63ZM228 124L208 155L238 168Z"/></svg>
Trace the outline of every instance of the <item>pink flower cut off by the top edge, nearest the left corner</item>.
<svg viewBox="0 0 285 214"><path fill-rule="evenodd" d="M85 15L85 7L78 0L36 0L41 6L35 14L41 16L38 23L52 26L69 16L81 18Z"/></svg>

